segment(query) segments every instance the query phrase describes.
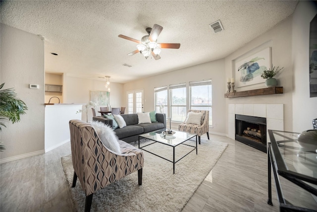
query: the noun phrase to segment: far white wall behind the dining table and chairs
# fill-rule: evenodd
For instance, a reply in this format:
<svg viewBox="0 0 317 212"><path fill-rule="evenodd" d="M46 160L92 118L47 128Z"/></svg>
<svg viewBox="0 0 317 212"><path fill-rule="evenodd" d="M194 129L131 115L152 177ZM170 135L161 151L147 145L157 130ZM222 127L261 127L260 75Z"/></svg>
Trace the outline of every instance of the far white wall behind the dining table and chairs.
<svg viewBox="0 0 317 212"><path fill-rule="evenodd" d="M64 74L66 75L66 74ZM90 90L106 91L105 81L85 79L73 76L64 77L64 103L87 104L90 101ZM111 107L126 107L124 105L123 84L113 83L110 78ZM105 105L106 106L106 105ZM96 108L100 109L100 106ZM96 114L101 115L100 113ZM88 121L92 120L92 110L88 110ZM86 121L86 113L82 113L82 120Z"/></svg>

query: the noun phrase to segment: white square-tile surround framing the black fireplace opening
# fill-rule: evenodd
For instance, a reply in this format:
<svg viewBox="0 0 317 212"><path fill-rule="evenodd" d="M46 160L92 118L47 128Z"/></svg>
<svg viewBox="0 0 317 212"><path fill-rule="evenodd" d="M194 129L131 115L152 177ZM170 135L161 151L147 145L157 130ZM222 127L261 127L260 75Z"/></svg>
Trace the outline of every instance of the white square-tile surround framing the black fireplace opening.
<svg viewBox="0 0 317 212"><path fill-rule="evenodd" d="M267 130L284 130L283 104L228 104L228 137L235 140L235 115L266 118L266 142L269 141Z"/></svg>

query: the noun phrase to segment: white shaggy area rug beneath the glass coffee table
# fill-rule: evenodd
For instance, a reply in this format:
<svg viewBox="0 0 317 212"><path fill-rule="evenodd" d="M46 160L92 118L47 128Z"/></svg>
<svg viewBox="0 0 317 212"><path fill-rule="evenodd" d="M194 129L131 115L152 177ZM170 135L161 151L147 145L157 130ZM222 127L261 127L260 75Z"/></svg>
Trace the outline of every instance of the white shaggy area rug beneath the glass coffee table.
<svg viewBox="0 0 317 212"><path fill-rule="evenodd" d="M149 142L143 140L144 143ZM195 145L195 141L186 141ZM137 142L131 143L135 146ZM144 152L144 167L142 185L138 185L138 172L134 172L123 179L108 185L93 195L92 212L177 212L181 211L192 197L198 186L211 171L227 143L218 141L202 141L196 150L182 158L175 164L168 162L147 151ZM145 147L156 151L159 155L172 159L173 148L155 143ZM176 159L183 152L190 151L186 145L179 145L176 149ZM74 169L71 155L61 158L61 163L69 183L70 193L77 211L84 211L85 193L79 180L76 187L71 188Z"/></svg>

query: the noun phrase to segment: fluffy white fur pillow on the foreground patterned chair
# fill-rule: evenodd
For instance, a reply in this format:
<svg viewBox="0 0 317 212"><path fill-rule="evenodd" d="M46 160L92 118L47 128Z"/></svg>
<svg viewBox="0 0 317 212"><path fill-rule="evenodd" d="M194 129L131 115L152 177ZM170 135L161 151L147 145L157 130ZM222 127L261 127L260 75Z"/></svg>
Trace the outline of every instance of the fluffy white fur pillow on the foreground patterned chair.
<svg viewBox="0 0 317 212"><path fill-rule="evenodd" d="M121 153L118 137L113 132L112 128L102 122L90 122L95 131L97 132L101 142L110 150Z"/></svg>

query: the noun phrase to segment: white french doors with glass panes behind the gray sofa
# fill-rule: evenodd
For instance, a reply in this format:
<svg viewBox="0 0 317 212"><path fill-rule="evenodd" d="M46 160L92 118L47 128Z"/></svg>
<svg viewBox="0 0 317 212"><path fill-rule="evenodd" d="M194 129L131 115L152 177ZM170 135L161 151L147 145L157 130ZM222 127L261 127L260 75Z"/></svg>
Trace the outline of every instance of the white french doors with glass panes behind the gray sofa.
<svg viewBox="0 0 317 212"><path fill-rule="evenodd" d="M142 113L144 106L144 90L127 91L128 114Z"/></svg>

